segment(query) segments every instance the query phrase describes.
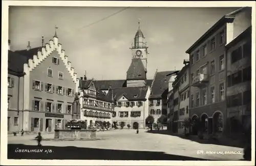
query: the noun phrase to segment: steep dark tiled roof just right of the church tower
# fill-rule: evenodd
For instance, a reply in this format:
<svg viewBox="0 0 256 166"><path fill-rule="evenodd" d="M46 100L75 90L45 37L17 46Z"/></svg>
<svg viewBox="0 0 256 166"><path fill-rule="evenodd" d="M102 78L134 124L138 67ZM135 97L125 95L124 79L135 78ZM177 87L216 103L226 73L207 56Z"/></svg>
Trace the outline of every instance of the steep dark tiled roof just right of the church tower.
<svg viewBox="0 0 256 166"><path fill-rule="evenodd" d="M170 79L169 74L175 71L165 71L157 72L153 85L151 87L151 95L149 99L159 99L162 98L162 94L165 90L168 90L168 80ZM167 76L168 75L168 76Z"/></svg>

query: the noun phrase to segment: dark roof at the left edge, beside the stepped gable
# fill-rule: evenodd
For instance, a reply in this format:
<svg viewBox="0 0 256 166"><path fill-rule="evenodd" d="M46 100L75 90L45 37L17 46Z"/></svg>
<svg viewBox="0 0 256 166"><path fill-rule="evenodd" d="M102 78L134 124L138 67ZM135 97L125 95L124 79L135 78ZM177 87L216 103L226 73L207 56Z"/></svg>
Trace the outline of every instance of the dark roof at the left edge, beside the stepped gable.
<svg viewBox="0 0 256 166"><path fill-rule="evenodd" d="M16 76L24 75L24 63L27 63L27 58L8 50L8 73Z"/></svg>

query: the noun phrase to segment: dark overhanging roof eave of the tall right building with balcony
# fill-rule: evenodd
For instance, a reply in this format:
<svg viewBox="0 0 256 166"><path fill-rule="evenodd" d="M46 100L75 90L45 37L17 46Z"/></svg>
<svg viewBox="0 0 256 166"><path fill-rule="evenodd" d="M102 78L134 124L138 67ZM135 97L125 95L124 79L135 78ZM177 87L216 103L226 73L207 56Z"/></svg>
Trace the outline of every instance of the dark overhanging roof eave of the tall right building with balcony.
<svg viewBox="0 0 256 166"><path fill-rule="evenodd" d="M215 23L208 31L206 31L203 36L201 36L193 45L190 46L190 48L186 51L187 54L190 54L198 45L200 45L202 42L204 42L211 34L216 32L219 28L221 28L224 23L226 22L232 22L235 15L245 9L248 9L248 7L239 8L238 10L235 10L231 13L228 13L224 15L219 21Z"/></svg>

